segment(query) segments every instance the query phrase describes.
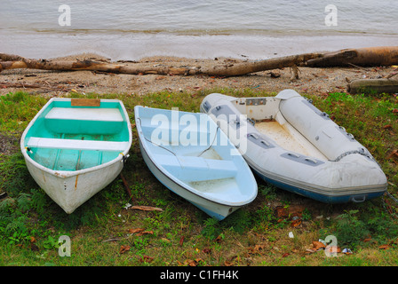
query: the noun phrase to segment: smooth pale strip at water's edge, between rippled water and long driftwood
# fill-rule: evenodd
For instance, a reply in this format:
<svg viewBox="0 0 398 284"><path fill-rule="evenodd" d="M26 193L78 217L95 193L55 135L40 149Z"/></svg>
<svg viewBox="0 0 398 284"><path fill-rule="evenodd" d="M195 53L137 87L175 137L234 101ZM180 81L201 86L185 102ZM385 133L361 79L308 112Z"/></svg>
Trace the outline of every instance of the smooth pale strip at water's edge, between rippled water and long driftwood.
<svg viewBox="0 0 398 284"><path fill-rule="evenodd" d="M65 31L0 31L0 52L30 59L52 59L83 52L96 53L113 61L147 57L187 59L270 59L306 52L338 51L345 48L398 45L398 35L358 33L185 35L179 33L84 33Z"/></svg>

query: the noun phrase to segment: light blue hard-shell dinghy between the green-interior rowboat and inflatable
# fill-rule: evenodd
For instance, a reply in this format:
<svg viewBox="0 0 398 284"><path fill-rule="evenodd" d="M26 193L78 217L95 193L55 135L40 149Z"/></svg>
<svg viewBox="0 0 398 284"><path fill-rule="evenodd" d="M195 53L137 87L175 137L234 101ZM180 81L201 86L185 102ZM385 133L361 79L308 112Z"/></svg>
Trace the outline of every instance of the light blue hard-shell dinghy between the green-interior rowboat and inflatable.
<svg viewBox="0 0 398 284"><path fill-rule="evenodd" d="M147 167L173 193L219 220L253 201L250 167L207 114L135 106Z"/></svg>

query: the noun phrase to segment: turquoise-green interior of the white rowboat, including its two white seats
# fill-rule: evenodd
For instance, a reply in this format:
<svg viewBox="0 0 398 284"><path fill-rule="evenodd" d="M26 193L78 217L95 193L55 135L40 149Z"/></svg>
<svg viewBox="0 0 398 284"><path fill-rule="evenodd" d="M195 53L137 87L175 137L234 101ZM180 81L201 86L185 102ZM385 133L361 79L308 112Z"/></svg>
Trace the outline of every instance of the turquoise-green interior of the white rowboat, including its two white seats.
<svg viewBox="0 0 398 284"><path fill-rule="evenodd" d="M72 106L54 100L28 130L28 155L50 170L84 170L114 160L129 146L129 130L117 101Z"/></svg>

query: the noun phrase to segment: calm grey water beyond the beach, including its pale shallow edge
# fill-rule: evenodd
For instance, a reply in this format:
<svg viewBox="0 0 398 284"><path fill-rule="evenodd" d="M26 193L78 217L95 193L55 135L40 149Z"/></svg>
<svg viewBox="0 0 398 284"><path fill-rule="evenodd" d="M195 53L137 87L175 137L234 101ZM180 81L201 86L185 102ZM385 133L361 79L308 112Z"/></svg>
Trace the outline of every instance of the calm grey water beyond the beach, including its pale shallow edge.
<svg viewBox="0 0 398 284"><path fill-rule="evenodd" d="M60 4L70 7L70 26L60 26ZM337 26L325 24L328 4L337 8ZM396 0L0 2L0 52L35 58L89 51L112 59L152 55L262 59L398 45L397 27Z"/></svg>

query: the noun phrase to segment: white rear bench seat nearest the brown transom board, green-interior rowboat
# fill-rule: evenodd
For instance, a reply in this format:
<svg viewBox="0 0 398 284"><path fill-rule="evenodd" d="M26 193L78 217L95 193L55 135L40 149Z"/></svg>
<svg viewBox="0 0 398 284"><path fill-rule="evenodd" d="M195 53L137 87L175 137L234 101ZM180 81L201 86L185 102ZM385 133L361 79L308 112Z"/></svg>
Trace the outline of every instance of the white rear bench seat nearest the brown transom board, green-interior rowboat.
<svg viewBox="0 0 398 284"><path fill-rule="evenodd" d="M117 108L52 107L52 110L45 115L45 118L100 122L123 122L123 116Z"/></svg>

